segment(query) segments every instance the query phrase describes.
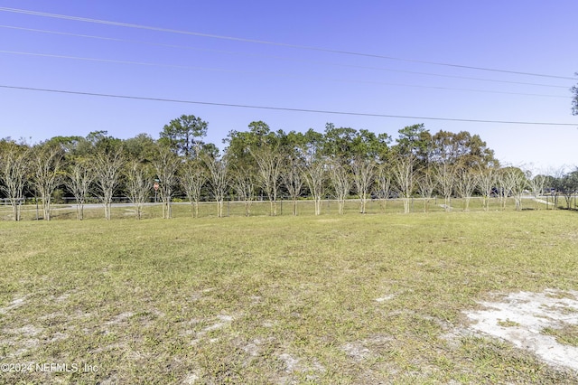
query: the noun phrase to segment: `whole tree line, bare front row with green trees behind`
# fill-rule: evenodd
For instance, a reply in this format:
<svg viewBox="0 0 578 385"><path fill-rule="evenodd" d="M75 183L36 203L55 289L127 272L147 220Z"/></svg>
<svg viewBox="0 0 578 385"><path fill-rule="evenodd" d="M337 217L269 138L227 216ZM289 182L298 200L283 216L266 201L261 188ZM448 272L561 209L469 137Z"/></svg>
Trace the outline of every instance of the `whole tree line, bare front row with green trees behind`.
<svg viewBox="0 0 578 385"><path fill-rule="evenodd" d="M328 123L323 132L272 130L265 122L251 122L245 131L230 131L225 149L205 143L208 123L192 115L172 119L159 138L140 134L129 139L108 136L107 131L88 136L55 136L37 145L0 140L0 192L12 207L14 221L21 219L22 203L31 197L42 202L42 218L51 220L55 192L74 198L77 217L84 217L84 205L98 199L104 216L111 218L114 196L124 196L142 218L145 202L158 193L163 218L172 217L176 196L191 202L191 216L198 217L201 201L217 202L217 216L223 216L223 202L244 202L246 215L257 196L266 197L270 215L277 214L281 196L293 202L314 202L315 214L322 211L322 199L331 196L343 213L351 196L365 213L368 200L383 207L393 197L409 202L419 196L428 210L433 196L443 196L450 210L454 196L468 210L472 196L497 197L502 208L513 197L522 208L522 193L537 198L545 189L555 197L564 195L568 207L578 190L578 173L532 175L517 167L500 167L494 152L478 135L467 131L429 132L423 124L398 131L394 140L387 134L365 129L335 127Z"/></svg>

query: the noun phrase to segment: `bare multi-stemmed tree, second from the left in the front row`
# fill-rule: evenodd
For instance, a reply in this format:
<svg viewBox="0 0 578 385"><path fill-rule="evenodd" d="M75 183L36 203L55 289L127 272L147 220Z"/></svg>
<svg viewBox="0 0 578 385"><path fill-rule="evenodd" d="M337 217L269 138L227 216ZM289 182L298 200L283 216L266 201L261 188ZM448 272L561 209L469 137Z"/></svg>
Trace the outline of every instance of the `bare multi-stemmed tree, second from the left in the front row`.
<svg viewBox="0 0 578 385"><path fill-rule="evenodd" d="M45 221L51 220L52 192L61 183L63 158L60 146L44 145L33 148L31 183L34 191L40 194Z"/></svg>

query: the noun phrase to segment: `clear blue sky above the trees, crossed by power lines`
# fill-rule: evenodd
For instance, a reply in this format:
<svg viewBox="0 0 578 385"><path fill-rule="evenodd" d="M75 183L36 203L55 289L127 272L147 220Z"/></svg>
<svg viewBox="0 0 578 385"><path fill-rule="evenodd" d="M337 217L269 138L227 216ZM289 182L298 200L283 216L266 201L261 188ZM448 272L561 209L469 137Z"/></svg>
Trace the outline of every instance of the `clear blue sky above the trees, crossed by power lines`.
<svg viewBox="0 0 578 385"><path fill-rule="evenodd" d="M121 138L139 133L158 137L163 125L182 114L208 121L206 139L218 146L230 130L245 130L254 120L285 131L322 131L332 122L394 137L402 127L424 123L432 133L444 129L479 134L504 164L543 170L578 164L578 117L571 114L569 91L578 80L453 66L573 78L578 71L573 44L578 2L573 0L0 0L0 7L205 34L0 11L0 85L409 117L575 124L363 117L0 88L0 137L38 142L95 130Z"/></svg>

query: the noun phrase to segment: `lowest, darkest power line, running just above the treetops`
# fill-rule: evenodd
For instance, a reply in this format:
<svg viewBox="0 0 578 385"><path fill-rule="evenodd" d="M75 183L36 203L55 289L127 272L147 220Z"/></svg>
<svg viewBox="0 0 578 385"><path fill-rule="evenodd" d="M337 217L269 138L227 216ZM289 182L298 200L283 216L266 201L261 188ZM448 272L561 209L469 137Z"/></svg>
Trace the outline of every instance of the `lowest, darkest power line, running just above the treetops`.
<svg viewBox="0 0 578 385"><path fill-rule="evenodd" d="M164 98L147 98L147 97L137 97L131 95L117 95L117 94L104 94L97 92L82 92L82 91L72 91L67 89L40 89L33 87L19 87L19 86L8 86L0 85L3 89L21 89L28 91L39 91L39 92L51 92L60 93L68 95L83 95L83 96L93 96L101 98L116 98L116 99L134 99L134 100L148 100L148 101L162 101L169 103L183 103L183 104L196 104L203 106L218 106L218 107L232 107L232 108L254 108L254 109L266 109L275 111L290 111L290 112L307 112L315 114L331 114L331 115L349 115L355 117L394 117L394 118L410 118L419 120L440 120L440 121L451 121L451 122L468 122L468 123L496 123L496 124L508 124L508 125L529 125L529 126L565 126L565 127L575 127L576 123L555 123L555 122L527 122L527 121L513 121L513 120L486 120L486 119L461 119L452 117L415 117L406 115L388 115L388 114L375 114L375 113L364 113L364 112L347 112L347 111L331 111L323 109L310 109L310 108L284 108L284 107L271 107L271 106L255 106L247 104L233 104L233 103L217 103L209 101L197 101L197 100L183 100L183 99L164 99Z"/></svg>

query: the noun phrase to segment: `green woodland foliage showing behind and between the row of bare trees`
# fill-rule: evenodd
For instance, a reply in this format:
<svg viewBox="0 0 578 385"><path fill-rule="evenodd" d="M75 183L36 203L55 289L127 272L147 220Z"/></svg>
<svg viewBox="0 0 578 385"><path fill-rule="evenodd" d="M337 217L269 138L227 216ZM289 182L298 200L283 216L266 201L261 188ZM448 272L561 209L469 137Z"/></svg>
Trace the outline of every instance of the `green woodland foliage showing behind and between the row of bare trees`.
<svg viewBox="0 0 578 385"><path fill-rule="evenodd" d="M184 164L187 160L217 159L221 156L217 146L202 140L207 134L207 127L208 123L200 117L182 115L172 119L163 127L158 140L147 134L138 134L123 140L109 136L106 130L99 130L90 132L86 137L55 136L42 145L60 146L65 160L61 165L63 174L70 174L75 164L94 165L94 159L99 156L119 152L122 153L126 162L136 161L150 165L161 153L162 147L169 148ZM226 146L223 155L227 157L229 183L226 190L232 196L240 196L238 182L242 179L249 184L255 184L246 184L251 191L251 196L267 195L276 200L277 192L280 195L289 195L286 186L288 164L292 165L292 172L298 172L299 176L303 177L311 164L322 164L320 169L328 171L328 163L338 162L349 173L346 176L352 178L352 175L357 175L351 173L353 164L379 166L379 174L387 175L391 174L397 160L412 156L413 166L412 175L410 175L412 188L410 196L406 197L409 199L412 196L415 197L417 192L425 192L424 189L419 188L420 186L413 185L415 182L431 181L433 188L428 188L426 191L431 190L433 195L443 193L439 181L432 178L433 170L441 164L452 172L458 168L480 172L488 167L499 166L493 151L481 140L480 136L471 135L467 131L452 133L440 130L432 135L424 124L416 124L399 129L398 134L392 143L392 138L385 133L376 134L367 129L336 127L332 123L327 123L323 132L318 132L313 128L305 132L284 132L281 129L269 127L262 120L256 120L249 123L246 130L231 130L223 140ZM30 147L25 142L17 142L10 138L0 140L0 165L3 154L14 149L27 151ZM275 155L273 166L269 162L271 155ZM269 164L268 171L266 164ZM92 174L96 172L94 167L85 168ZM275 173L271 175L269 171L275 171ZM379 178L379 175L373 175L373 172L370 174L366 183L368 188L363 189L364 196L382 196L381 190L387 178ZM30 196L33 189L28 174L26 178L23 192ZM94 195L98 189L95 188L96 179L91 179L93 183L90 185L89 192L90 195ZM335 186L332 185L334 181L332 182L328 177L322 179L323 193L334 195ZM453 181L449 181L446 189L448 199L455 190L452 183ZM563 193L573 191L572 183L573 179L570 175L559 174L545 184L546 187L553 187L556 192ZM496 183L493 184L496 185ZM72 195L69 186L65 183L61 183L58 188L63 189L66 196ZM203 196L209 195L209 188L210 183L203 185ZM0 190L6 195L2 183L0 183ZM184 195L185 190L181 185L176 185L174 193ZM356 186L357 190L359 186ZM119 196L127 196L126 170L123 170L123 174L120 175L115 193ZM311 194L311 188L309 191L306 187L303 188L303 193ZM443 195L446 194L443 193Z"/></svg>

